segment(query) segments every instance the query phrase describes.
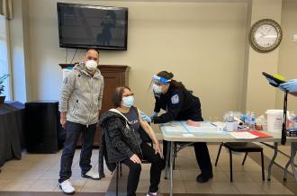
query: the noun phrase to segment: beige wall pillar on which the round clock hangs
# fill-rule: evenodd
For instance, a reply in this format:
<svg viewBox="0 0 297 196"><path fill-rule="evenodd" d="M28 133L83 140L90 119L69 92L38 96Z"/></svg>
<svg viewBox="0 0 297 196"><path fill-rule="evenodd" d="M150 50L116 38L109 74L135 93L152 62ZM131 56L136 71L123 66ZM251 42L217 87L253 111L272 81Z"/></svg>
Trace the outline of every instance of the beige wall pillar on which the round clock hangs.
<svg viewBox="0 0 297 196"><path fill-rule="evenodd" d="M253 0L251 25L264 18L281 23L281 16L282 0ZM276 89L268 85L262 72L272 75L277 73L279 48L260 53L249 46L246 58L248 59L246 108L247 111L254 111L260 115L267 109L275 108Z"/></svg>

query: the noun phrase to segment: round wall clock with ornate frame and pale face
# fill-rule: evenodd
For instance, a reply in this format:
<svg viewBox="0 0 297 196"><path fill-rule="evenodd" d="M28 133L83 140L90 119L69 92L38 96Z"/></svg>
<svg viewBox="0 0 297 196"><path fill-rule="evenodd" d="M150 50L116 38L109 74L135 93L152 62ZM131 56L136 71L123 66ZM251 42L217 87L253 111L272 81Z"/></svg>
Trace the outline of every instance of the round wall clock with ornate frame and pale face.
<svg viewBox="0 0 297 196"><path fill-rule="evenodd" d="M282 30L279 24L270 19L256 22L250 31L249 41L251 46L260 52L275 49L282 40Z"/></svg>

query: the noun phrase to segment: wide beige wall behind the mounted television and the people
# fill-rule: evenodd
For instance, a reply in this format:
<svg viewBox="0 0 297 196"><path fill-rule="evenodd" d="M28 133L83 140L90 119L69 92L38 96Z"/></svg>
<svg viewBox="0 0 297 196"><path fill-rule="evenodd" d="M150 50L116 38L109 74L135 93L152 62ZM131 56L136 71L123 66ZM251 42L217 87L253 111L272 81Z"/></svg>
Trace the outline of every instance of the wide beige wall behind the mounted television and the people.
<svg viewBox="0 0 297 196"><path fill-rule="evenodd" d="M102 51L100 60L103 65L131 67L130 87L144 111L152 111L148 85L151 76L161 70L172 71L176 80L200 96L204 117L241 108L245 1L64 2L129 7L128 50ZM58 99L62 77L58 63L65 62L66 49L58 48L56 9L56 1L29 0L32 99ZM82 57L83 51L78 52L74 61Z"/></svg>

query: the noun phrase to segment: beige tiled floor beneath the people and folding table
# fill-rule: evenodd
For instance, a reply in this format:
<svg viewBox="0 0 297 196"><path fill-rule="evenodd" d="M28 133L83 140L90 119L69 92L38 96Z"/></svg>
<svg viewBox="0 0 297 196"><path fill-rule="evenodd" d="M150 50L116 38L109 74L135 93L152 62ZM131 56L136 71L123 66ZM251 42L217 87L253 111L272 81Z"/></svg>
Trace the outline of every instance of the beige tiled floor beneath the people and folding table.
<svg viewBox="0 0 297 196"><path fill-rule="evenodd" d="M211 162L214 165L218 145L209 145ZM289 147L283 147L288 151ZM106 177L101 181L82 178L79 168L79 153L73 161L71 182L77 192L106 192L111 183L112 174L105 167ZM61 152L52 155L23 154L22 160L5 163L0 174L1 191L21 192L59 192L58 170ZM265 155L271 157L273 151L265 148ZM98 149L94 149L92 165L97 169ZM252 158L247 157L246 165L242 166L243 155L233 156L233 181L229 183L229 154L222 150L217 167L213 167L214 178L209 183L196 183L196 175L200 173L194 158L193 147L182 149L175 159L174 192L175 193L213 193L213 194L293 194L274 177L271 182L262 182L261 167ZM285 165L284 156L277 158L278 163ZM147 192L149 185L149 167L142 165L142 173L138 192ZM288 183L291 183L290 181ZM160 183L160 192L169 192L169 181Z"/></svg>

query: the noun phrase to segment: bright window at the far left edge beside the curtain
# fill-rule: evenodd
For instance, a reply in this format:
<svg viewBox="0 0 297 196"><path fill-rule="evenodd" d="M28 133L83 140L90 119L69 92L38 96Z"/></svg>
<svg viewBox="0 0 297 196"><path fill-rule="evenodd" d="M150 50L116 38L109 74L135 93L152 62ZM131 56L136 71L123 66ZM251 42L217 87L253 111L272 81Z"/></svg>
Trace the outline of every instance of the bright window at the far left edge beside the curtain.
<svg viewBox="0 0 297 196"><path fill-rule="evenodd" d="M10 74L8 63L9 58L6 20L7 19L3 15L0 15L0 76L3 76L4 74ZM9 78L4 81L4 96L6 96L5 100L11 100L9 81Z"/></svg>

